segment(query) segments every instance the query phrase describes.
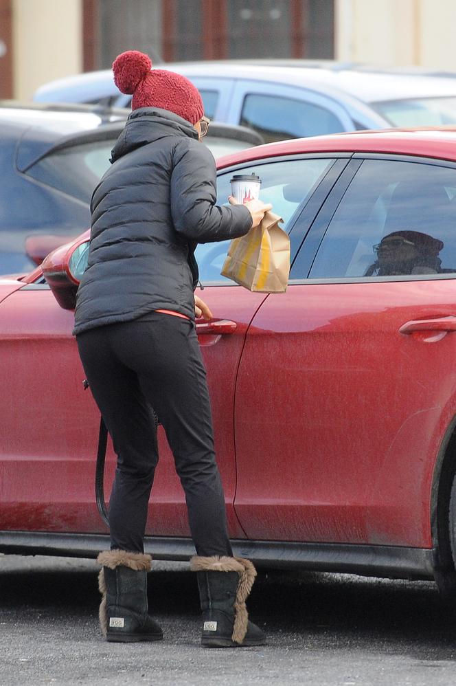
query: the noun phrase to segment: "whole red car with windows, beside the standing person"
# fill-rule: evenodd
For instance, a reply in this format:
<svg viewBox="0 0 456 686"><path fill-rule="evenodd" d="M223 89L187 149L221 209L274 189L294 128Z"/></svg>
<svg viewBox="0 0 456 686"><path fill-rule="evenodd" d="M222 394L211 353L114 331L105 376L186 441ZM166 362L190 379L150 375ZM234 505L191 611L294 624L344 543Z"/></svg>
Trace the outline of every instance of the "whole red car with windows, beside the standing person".
<svg viewBox="0 0 456 686"><path fill-rule="evenodd" d="M290 234L286 294L220 276L198 323L236 554L257 563L437 579L456 547L456 131L270 144L219 163L256 173ZM0 282L0 551L95 555L99 416L71 337L88 232ZM43 269L47 281L43 276ZM49 285L50 287L49 287ZM159 428L147 550L193 553ZM106 463L108 491L114 470Z"/></svg>

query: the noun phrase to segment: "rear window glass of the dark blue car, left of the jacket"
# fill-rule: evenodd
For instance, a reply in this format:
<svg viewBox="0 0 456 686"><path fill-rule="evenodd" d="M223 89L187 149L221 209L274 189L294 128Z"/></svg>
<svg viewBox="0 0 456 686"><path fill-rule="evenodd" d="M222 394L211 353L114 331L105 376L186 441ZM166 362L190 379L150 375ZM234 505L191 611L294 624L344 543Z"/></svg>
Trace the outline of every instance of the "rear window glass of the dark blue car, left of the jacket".
<svg viewBox="0 0 456 686"><path fill-rule="evenodd" d="M89 203L93 188L109 167L115 139L84 143L49 153L27 169L47 186Z"/></svg>

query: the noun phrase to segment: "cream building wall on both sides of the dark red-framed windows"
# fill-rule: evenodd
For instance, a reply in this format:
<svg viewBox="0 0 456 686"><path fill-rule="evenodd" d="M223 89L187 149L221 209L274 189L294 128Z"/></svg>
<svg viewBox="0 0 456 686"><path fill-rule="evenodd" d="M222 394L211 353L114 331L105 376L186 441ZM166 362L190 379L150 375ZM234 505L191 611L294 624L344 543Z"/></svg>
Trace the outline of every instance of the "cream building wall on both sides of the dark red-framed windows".
<svg viewBox="0 0 456 686"><path fill-rule="evenodd" d="M0 31L0 38L8 47L6 56L0 54L3 97L27 100L39 85L82 71L82 14L84 6L93 3L0 0L0 29L5 34ZM268 6L272 4L267 0ZM336 59L456 71L455 0L335 0L334 4Z"/></svg>

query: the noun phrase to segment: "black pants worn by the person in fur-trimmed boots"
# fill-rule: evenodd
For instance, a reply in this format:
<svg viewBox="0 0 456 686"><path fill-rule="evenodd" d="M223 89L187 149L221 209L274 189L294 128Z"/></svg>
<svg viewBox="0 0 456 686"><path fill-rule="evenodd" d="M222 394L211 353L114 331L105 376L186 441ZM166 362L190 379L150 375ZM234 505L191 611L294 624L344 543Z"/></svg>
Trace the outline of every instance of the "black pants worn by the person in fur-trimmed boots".
<svg viewBox="0 0 456 686"><path fill-rule="evenodd" d="M214 454L206 373L194 322L151 312L77 336L84 371L117 454L109 500L111 549L142 552L163 424L198 555L232 555Z"/></svg>

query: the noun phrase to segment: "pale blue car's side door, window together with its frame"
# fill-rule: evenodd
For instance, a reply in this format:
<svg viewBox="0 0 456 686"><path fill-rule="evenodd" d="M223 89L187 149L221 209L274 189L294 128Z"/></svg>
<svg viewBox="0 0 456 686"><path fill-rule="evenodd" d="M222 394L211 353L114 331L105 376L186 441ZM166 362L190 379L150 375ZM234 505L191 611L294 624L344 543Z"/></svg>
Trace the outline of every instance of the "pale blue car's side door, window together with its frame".
<svg viewBox="0 0 456 686"><path fill-rule="evenodd" d="M345 107L334 98L311 89L281 85L273 78L238 80L228 121L258 131L266 143L356 129Z"/></svg>

